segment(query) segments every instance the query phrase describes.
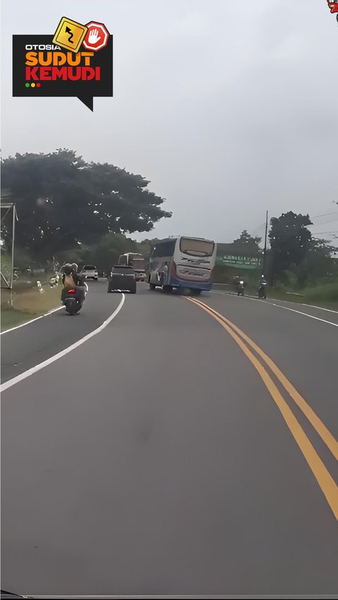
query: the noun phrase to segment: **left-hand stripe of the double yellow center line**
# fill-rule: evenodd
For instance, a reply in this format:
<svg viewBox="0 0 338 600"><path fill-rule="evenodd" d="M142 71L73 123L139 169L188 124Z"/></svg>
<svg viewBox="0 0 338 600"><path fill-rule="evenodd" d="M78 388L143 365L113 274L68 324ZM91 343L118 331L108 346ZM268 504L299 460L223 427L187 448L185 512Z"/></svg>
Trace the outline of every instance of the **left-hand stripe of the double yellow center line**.
<svg viewBox="0 0 338 600"><path fill-rule="evenodd" d="M220 323L220 325L224 327L224 329L227 330L227 332L231 335L232 339L234 339L234 341L238 344L239 348L244 352L247 358L249 358L249 361L253 364L254 368L256 368L258 374L261 376L261 379L265 384L265 387L267 387L268 391L270 392L270 395L275 401L275 404L279 408L280 413L282 413L284 421L287 424L287 427L289 427L289 430L292 433L296 444L298 444L299 449L301 449L301 452L303 453L306 462L311 468L313 475L315 476L315 479L317 480L318 485L320 486L320 489L325 495L327 503L329 504L332 512L334 513L334 516L338 520L338 486L334 482L320 456L318 456L317 452L313 448L313 445L306 436L306 433L301 428L301 425L299 424L298 420L296 420L296 417L294 416L294 413L292 412L291 408L289 408L287 402L282 397L282 394L280 394L279 389L277 389L275 383L268 374L268 371L265 370L263 365L258 361L258 358L254 356L251 350L249 350L249 348L244 343L244 340L241 339L241 337L239 337L237 333L234 332L232 327L236 326L232 324L232 326L230 327L230 325L228 325L225 322L225 320L223 320L223 318L220 318L221 316L223 317L223 315L216 315L213 312L213 309L211 309L206 304L203 304L203 302L194 300L192 298L187 298L187 300L189 300L193 304L196 304L196 306L199 306L199 308L202 308L202 310L206 311L206 313L208 313L215 320L217 320L218 323Z"/></svg>

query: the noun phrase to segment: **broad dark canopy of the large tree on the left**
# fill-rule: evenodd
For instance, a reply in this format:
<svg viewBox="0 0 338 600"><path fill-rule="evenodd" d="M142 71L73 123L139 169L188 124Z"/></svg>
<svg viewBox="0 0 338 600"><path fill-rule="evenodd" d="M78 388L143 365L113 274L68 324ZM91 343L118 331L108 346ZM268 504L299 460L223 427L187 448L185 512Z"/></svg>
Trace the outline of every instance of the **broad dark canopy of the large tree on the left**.
<svg viewBox="0 0 338 600"><path fill-rule="evenodd" d="M17 205L17 242L33 256L92 244L110 232L151 231L171 216L142 175L87 163L73 150L15 154L1 163L2 185Z"/></svg>

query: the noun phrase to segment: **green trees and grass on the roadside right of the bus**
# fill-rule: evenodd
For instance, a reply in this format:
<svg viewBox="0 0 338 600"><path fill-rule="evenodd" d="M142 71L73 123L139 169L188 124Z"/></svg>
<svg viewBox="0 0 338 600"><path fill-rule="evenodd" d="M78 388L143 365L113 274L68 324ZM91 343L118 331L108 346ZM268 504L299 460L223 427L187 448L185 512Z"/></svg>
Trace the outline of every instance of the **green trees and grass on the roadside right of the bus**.
<svg viewBox="0 0 338 600"><path fill-rule="evenodd" d="M338 210L337 210L338 215ZM308 215L290 211L270 221L270 249L265 256L264 276L270 298L317 304L338 310L338 249L327 239L313 237ZM232 246L233 254L259 256L263 265L261 238L251 237L246 230ZM216 266L214 281L237 285L239 277L246 282L246 294L257 294L260 270Z"/></svg>

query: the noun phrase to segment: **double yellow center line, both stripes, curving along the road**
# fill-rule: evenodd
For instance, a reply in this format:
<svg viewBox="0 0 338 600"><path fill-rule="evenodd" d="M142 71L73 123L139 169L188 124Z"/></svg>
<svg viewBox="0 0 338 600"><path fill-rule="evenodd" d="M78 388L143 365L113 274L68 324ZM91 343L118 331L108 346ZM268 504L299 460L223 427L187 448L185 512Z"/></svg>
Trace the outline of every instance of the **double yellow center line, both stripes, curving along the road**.
<svg viewBox="0 0 338 600"><path fill-rule="evenodd" d="M292 433L296 443L298 444L303 456L306 458L306 462L311 468L315 479L320 486L327 502L334 513L334 516L338 520L338 487L334 482L332 476L328 472L325 464L321 460L320 456L318 456L317 452L313 448L310 440L306 436L306 433L303 431L301 425L298 420L294 416L291 408L287 404L287 401L284 400L282 394L279 389L273 382L272 377L269 375L268 370L265 367L268 367L270 371L277 377L277 380L282 384L282 387L286 390L289 396L294 400L296 405L301 409L306 418L311 423L315 431L320 435L325 442L326 446L332 452L333 456L338 461L338 442L334 439L332 433L325 427L324 423L320 420L318 415L315 414L311 406L307 404L307 402L303 399L301 394L297 392L291 382L285 377L282 371L277 367L277 365L271 360L271 358L263 352L263 350L255 344L242 330L239 329L234 323L225 318L223 315L215 311L213 308L204 304L199 300L193 298L187 298L199 308L202 308L206 313L211 315L225 330L231 335L232 339L238 344L239 348L242 349L244 354L249 358L249 361L253 364L254 368L258 371L261 376L265 386L270 392L273 400L277 404L277 407L280 409L282 416L289 427L290 432ZM250 350L253 349L258 356L260 356L263 364L258 358L253 354Z"/></svg>

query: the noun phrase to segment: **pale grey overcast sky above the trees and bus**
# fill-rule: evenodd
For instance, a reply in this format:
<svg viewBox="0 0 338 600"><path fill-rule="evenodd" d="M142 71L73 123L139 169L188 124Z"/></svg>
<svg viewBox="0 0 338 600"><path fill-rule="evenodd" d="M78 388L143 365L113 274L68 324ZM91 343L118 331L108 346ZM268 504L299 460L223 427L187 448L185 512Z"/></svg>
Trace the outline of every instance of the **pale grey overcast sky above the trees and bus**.
<svg viewBox="0 0 338 600"><path fill-rule="evenodd" d="M336 211L312 229L338 235L338 24L326 0L1 8L2 156L66 147L140 173L173 211L150 237L262 235L266 210ZM11 96L11 35L54 34L63 15L114 36L114 97L94 99L94 113L76 98Z"/></svg>

